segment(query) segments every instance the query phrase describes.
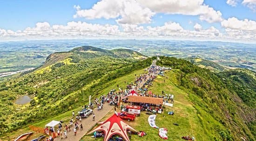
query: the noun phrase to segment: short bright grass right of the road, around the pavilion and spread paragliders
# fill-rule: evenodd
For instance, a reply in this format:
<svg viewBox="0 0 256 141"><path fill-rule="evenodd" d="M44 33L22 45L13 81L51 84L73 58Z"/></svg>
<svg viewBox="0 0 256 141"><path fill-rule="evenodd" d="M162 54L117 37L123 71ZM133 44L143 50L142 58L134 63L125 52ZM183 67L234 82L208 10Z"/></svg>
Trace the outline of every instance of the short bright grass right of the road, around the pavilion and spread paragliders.
<svg viewBox="0 0 256 141"><path fill-rule="evenodd" d="M198 141L211 141L212 138L209 137L208 131L206 131L202 122L200 115L197 114L196 109L189 102L189 97L186 92L176 87L178 82L175 76L177 75L175 71L169 71L165 73L165 77L157 77L153 82L153 86L149 87L154 94L162 94L162 90L165 93L171 93L174 95L174 107L165 107L162 114L157 114L156 116L156 126L159 128L168 129L168 141L181 141L182 136L191 135L195 137ZM168 78L166 78L168 77ZM174 115L168 115L168 111L174 111ZM113 114L113 112L110 112ZM106 115L104 119L108 118L111 114ZM137 135L132 135L130 141L160 141L162 140L158 136L158 129L151 128L148 124L148 116L145 112L141 113L141 116L136 117L135 121L127 122L131 127L135 128L137 131L143 130L148 135L144 137L139 137ZM103 120L104 121L104 120ZM173 125L173 123L178 123L179 126ZM91 135L84 136L81 141L102 141L102 138L94 140Z"/></svg>

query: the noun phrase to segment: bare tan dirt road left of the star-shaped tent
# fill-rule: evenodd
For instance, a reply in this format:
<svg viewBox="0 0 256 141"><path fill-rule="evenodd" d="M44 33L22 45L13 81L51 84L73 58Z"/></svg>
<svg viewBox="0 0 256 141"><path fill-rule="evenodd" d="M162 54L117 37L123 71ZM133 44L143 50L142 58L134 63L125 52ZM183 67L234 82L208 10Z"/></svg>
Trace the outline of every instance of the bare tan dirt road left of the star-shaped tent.
<svg viewBox="0 0 256 141"><path fill-rule="evenodd" d="M54 139L54 141L79 141L87 133L87 131L93 125L95 125L96 122L98 122L101 118L103 118L113 108L114 106L110 106L108 105L108 103L105 103L103 106L103 109L99 111L97 110L97 108L95 108L93 110L95 114L95 121L93 121L93 115L89 115L88 118L82 118L83 130L80 130L80 126L79 126L79 129L77 130L77 134L74 135L74 126L73 126L70 128L70 131L67 132L67 138L63 138L63 140L61 140L60 137L57 137ZM79 125L81 124L80 122L78 123Z"/></svg>

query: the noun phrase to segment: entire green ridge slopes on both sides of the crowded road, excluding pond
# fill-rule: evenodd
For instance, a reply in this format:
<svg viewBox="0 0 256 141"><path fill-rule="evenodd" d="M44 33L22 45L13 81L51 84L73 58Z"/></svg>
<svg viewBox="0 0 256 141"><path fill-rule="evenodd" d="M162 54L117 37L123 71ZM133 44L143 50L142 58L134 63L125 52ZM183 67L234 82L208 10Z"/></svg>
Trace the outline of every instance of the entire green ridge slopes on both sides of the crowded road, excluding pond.
<svg viewBox="0 0 256 141"><path fill-rule="evenodd" d="M71 110L88 103L89 95L98 97L124 80L133 81L134 74L143 73L156 59L138 57L147 58L130 50L108 51L84 46L54 53L37 70L0 82L3 97L0 99L3 105L0 107L0 137L30 124L40 125L53 117L66 118ZM165 113L156 120L158 126L168 128L170 140L180 141L182 135L193 135L196 141L240 141L242 138L255 141L255 72L212 72L170 57L160 57L157 65L172 68L149 87L155 94L164 90L175 95L174 108L166 107ZM21 95L33 97L33 100L23 106L14 104ZM170 110L175 111L174 116L166 114ZM157 130L145 127L147 117L142 114L131 124L148 135L136 136L131 141L160 139ZM174 126L174 122L180 125Z"/></svg>

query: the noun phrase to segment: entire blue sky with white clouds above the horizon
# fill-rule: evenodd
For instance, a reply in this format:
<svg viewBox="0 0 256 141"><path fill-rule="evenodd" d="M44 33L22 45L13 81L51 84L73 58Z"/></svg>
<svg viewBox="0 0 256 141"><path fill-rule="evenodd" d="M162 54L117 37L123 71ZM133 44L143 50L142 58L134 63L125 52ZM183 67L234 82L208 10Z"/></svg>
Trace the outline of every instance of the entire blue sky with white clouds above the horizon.
<svg viewBox="0 0 256 141"><path fill-rule="evenodd" d="M180 39L256 43L256 0L1 0L0 41Z"/></svg>

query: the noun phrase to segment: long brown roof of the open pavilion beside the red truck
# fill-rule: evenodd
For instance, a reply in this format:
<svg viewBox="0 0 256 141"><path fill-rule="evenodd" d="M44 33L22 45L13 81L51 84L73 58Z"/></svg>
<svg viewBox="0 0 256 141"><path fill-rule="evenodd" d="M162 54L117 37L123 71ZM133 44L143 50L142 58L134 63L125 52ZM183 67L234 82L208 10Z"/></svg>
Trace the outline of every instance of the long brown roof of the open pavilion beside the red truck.
<svg viewBox="0 0 256 141"><path fill-rule="evenodd" d="M163 99L156 97L148 97L148 96L129 96L128 102L133 103L150 103L150 104L159 104L162 105Z"/></svg>

